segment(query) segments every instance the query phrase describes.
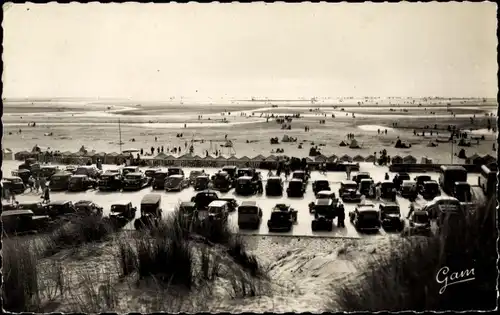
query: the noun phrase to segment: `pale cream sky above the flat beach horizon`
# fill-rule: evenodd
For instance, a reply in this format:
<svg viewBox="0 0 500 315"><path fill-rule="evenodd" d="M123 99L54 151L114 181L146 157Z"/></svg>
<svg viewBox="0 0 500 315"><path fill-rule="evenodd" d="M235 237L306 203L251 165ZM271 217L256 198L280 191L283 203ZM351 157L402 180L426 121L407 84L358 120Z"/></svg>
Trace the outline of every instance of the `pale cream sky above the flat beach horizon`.
<svg viewBox="0 0 500 315"><path fill-rule="evenodd" d="M494 97L495 3L8 4L2 97Z"/></svg>

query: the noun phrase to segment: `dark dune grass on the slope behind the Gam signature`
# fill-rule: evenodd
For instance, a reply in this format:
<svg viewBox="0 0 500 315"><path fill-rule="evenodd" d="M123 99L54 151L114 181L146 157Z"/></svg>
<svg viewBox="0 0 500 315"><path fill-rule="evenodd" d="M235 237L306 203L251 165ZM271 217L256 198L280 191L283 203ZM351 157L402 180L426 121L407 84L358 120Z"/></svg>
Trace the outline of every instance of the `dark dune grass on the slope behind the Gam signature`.
<svg viewBox="0 0 500 315"><path fill-rule="evenodd" d="M330 309L342 311L464 311L496 307L496 200L470 214L457 229L394 243L377 255L361 280L337 286ZM448 286L436 279L448 267ZM474 270L475 280L450 285L451 274ZM442 270L441 270L442 272ZM443 281L444 275L440 275ZM470 278L470 277L469 277ZM440 292L441 291L441 292Z"/></svg>

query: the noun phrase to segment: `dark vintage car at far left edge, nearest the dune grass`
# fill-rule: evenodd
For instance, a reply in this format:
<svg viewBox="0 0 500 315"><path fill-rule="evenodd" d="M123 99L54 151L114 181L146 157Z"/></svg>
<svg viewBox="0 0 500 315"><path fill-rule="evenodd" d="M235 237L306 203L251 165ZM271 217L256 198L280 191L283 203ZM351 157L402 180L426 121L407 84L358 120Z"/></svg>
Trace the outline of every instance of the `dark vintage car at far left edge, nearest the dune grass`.
<svg viewBox="0 0 500 315"><path fill-rule="evenodd" d="M52 220L49 216L35 216L31 210L7 210L2 212L3 232L7 235L19 235L48 230Z"/></svg>

